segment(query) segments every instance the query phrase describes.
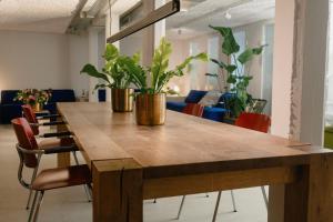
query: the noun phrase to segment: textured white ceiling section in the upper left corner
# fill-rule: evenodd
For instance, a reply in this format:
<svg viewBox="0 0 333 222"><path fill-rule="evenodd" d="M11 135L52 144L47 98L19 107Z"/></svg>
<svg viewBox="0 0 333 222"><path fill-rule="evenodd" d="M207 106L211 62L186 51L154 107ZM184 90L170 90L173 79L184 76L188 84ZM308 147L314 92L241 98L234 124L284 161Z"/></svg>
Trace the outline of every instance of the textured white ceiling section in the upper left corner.
<svg viewBox="0 0 333 222"><path fill-rule="evenodd" d="M63 33L79 0L1 0L0 29Z"/></svg>

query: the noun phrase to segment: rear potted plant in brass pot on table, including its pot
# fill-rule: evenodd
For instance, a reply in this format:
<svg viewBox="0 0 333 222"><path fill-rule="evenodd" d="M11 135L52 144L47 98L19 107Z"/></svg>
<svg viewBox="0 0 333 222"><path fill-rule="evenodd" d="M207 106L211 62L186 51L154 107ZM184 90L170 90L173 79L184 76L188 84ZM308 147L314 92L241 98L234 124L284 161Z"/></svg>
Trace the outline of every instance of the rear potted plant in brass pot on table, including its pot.
<svg viewBox="0 0 333 222"><path fill-rule="evenodd" d="M130 88L131 84L131 70L124 69L125 64L131 62L138 65L140 61L139 53L132 58L120 56L119 50L113 44L107 44L103 58L105 65L102 72L99 72L92 64L85 64L81 73L94 77L104 81L98 83L94 90L100 88L111 89L112 110L114 112L131 112L133 110L134 90Z"/></svg>

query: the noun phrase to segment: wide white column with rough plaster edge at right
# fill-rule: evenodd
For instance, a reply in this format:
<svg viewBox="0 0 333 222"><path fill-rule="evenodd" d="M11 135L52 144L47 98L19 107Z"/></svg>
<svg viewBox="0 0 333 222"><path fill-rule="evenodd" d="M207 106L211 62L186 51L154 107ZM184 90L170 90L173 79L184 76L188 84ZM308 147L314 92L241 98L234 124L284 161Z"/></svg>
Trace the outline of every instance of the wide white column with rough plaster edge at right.
<svg viewBox="0 0 333 222"><path fill-rule="evenodd" d="M322 145L329 1L278 0L272 133Z"/></svg>

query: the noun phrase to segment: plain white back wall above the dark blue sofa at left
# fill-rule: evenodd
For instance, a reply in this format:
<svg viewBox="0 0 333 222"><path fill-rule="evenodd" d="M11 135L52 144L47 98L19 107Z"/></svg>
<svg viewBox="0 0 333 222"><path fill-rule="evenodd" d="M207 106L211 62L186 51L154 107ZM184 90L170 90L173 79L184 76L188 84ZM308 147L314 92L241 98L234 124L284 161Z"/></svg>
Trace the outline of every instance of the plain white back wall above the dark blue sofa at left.
<svg viewBox="0 0 333 222"><path fill-rule="evenodd" d="M88 89L87 37L0 31L0 90Z"/></svg>

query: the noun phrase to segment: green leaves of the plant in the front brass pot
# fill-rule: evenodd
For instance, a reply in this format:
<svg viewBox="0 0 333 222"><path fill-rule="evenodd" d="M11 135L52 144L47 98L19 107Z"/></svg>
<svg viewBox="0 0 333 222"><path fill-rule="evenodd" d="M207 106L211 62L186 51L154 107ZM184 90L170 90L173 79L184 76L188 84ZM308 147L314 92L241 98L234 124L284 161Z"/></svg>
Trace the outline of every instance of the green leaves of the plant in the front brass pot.
<svg viewBox="0 0 333 222"><path fill-rule="evenodd" d="M133 61L125 64L128 70L131 70L130 74L133 84L141 90L141 93L173 93L172 90L165 88L173 77L184 75L184 69L189 68L192 60L208 61L206 53L199 53L186 58L181 64L176 65L175 69L168 70L171 53L171 43L168 42L165 38L162 38L159 48L154 51L153 61L150 67L142 68Z"/></svg>

